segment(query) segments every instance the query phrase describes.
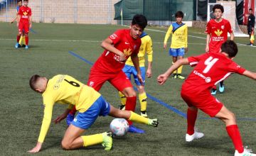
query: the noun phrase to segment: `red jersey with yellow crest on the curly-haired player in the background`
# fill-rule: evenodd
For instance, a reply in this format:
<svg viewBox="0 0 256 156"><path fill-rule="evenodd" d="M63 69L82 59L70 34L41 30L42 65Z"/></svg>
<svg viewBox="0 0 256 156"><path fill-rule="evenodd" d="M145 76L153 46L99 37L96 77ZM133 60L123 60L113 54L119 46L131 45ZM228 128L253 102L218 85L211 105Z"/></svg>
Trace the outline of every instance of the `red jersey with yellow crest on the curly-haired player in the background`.
<svg viewBox="0 0 256 156"><path fill-rule="evenodd" d="M230 22L223 18L222 21L216 22L211 19L206 26L206 33L210 34L209 52L220 52L220 47L228 40L228 33L232 33Z"/></svg>

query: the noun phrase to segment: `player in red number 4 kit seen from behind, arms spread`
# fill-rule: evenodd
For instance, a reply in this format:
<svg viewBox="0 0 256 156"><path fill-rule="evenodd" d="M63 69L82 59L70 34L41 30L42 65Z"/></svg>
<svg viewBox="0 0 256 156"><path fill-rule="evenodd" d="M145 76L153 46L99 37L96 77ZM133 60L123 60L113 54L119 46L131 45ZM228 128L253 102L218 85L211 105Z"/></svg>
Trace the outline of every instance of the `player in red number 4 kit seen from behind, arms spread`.
<svg viewBox="0 0 256 156"><path fill-rule="evenodd" d="M235 42L228 40L221 45L221 52L207 52L203 55L178 60L157 79L159 84L164 84L170 74L181 65L196 65L181 87L181 97L188 105L186 141L191 142L203 137L203 133L194 129L199 108L210 117L219 118L225 123L227 133L235 146L235 156L255 155L250 153L246 147L243 148L234 113L210 94L210 89L215 84L232 73L242 74L256 80L256 72L250 72L233 62L237 52L238 47Z"/></svg>

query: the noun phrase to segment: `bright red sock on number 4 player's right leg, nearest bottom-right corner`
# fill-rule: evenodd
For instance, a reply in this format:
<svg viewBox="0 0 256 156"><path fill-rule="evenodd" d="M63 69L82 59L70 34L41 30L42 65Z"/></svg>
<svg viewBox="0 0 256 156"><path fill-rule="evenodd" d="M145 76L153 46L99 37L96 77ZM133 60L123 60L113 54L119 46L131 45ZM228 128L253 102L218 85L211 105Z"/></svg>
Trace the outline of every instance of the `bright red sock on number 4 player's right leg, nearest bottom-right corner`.
<svg viewBox="0 0 256 156"><path fill-rule="evenodd" d="M242 146L242 138L240 136L240 132L237 125L230 125L226 127L228 135L230 136L233 144L235 146L235 150L238 150L239 153L242 153L244 148Z"/></svg>

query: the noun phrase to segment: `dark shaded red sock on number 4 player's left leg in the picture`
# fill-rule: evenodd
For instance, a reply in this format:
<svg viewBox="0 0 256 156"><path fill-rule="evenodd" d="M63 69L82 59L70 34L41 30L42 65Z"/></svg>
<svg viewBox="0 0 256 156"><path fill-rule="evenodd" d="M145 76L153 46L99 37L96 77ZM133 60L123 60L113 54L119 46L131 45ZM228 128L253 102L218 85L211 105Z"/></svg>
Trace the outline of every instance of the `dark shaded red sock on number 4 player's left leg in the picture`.
<svg viewBox="0 0 256 156"><path fill-rule="evenodd" d="M187 133L189 135L193 135L193 133L194 133L197 113L198 113L198 110L192 111L191 109L188 108L188 111L187 111L187 123L188 123Z"/></svg>

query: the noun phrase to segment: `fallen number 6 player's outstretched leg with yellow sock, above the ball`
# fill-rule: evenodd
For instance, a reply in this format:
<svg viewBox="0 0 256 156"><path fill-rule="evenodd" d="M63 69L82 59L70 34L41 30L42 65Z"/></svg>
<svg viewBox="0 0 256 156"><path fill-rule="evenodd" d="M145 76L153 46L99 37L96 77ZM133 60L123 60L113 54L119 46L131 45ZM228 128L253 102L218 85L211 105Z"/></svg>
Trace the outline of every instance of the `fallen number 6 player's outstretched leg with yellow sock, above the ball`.
<svg viewBox="0 0 256 156"><path fill-rule="evenodd" d="M159 122L156 118L150 119L145 118L143 116L139 116L139 114L134 113L133 111L122 111L118 108L114 108L114 106L110 105L110 114L109 116L113 116L115 118L125 118L129 121L134 121L136 123L143 123L149 126L157 127Z"/></svg>

